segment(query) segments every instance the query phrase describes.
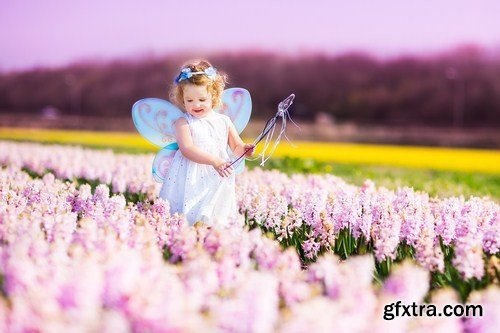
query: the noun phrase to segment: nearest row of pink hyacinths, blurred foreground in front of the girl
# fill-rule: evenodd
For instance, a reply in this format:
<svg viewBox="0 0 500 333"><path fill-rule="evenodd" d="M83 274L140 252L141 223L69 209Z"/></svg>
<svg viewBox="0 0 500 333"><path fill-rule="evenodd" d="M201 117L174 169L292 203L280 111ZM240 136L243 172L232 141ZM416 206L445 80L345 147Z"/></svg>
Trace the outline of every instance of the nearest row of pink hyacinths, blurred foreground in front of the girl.
<svg viewBox="0 0 500 333"><path fill-rule="evenodd" d="M3 332L449 333L500 324L498 286L470 295L481 317L388 317L390 304L423 302L429 271L405 261L373 284L372 255L333 254L304 270L296 251L259 228L188 227L161 199L127 203L107 185L92 193L14 166L0 170L0 244ZM440 289L430 301L457 304L458 295Z"/></svg>

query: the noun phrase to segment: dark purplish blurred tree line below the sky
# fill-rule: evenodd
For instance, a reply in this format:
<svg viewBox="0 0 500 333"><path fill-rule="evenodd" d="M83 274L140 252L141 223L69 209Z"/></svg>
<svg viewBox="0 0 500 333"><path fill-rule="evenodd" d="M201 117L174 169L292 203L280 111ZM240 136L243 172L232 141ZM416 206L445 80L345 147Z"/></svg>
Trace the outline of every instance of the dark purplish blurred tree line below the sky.
<svg viewBox="0 0 500 333"><path fill-rule="evenodd" d="M167 98L178 54L61 68L0 73L0 112L130 116L144 97ZM286 56L266 52L212 54L229 85L252 94L253 117L268 118L295 93L292 117L383 125L497 127L500 57L464 47L440 55L380 60L364 53ZM324 119L324 118L322 118Z"/></svg>

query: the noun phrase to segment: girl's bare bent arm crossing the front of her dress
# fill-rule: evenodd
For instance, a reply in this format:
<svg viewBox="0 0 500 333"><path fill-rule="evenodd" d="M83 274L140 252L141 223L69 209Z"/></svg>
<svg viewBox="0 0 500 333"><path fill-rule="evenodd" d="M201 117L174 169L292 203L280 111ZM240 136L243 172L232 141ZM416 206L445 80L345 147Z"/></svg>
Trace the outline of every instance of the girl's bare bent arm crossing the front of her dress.
<svg viewBox="0 0 500 333"><path fill-rule="evenodd" d="M221 176L228 176L233 170L232 167L227 170L225 169L228 161L206 153L194 145L191 131L189 130L189 124L186 119L179 118L175 122L175 134L179 150L186 158L196 163L213 166Z"/></svg>

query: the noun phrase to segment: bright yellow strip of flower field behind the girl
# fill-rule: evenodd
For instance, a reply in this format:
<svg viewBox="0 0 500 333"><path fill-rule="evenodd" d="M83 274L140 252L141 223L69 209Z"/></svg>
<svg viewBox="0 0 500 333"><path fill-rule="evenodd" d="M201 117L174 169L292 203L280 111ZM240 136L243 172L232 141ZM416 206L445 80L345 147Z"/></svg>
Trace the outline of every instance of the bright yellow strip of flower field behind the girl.
<svg viewBox="0 0 500 333"><path fill-rule="evenodd" d="M65 143L99 148L133 148L154 152L158 147L138 133L0 128L0 139ZM251 139L246 140L250 142ZM500 174L500 151L417 146L282 142L273 157L310 158L323 162L390 165L437 170ZM257 153L263 143L258 145Z"/></svg>

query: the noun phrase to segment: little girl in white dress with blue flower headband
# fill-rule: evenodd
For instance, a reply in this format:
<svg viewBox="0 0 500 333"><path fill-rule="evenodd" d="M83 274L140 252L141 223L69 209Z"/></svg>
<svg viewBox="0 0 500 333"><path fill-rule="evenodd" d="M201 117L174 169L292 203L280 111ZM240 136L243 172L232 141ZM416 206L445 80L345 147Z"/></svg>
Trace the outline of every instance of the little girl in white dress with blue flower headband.
<svg viewBox="0 0 500 333"><path fill-rule="evenodd" d="M184 65L170 90L170 99L184 111L175 122L175 153L160 198L170 212L184 214L190 225L201 221L225 226L236 218L235 174L227 146L236 156L252 156L230 118L213 109L222 104L226 83L208 61ZM229 166L229 167L228 167Z"/></svg>

